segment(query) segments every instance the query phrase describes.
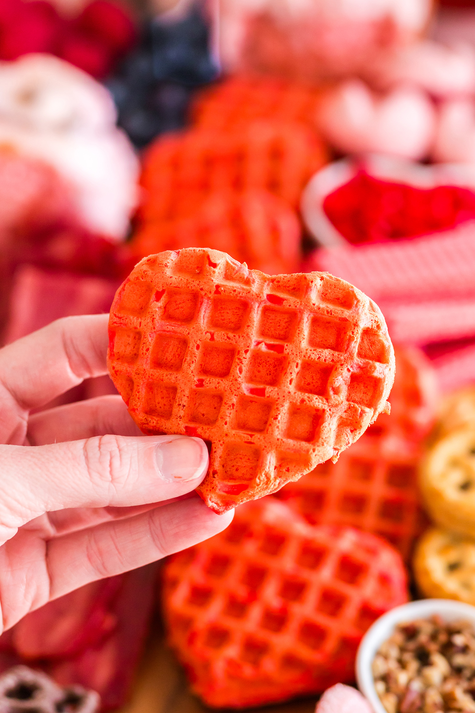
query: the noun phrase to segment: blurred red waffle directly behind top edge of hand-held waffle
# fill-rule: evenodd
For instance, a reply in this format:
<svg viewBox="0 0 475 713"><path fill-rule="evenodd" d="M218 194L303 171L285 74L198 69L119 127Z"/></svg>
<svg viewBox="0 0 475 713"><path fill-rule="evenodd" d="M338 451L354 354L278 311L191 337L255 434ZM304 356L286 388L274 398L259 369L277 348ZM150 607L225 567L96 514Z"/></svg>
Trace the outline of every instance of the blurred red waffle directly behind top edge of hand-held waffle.
<svg viewBox="0 0 475 713"><path fill-rule="evenodd" d="M202 198L199 205L198 198ZM301 226L296 213L280 198L263 190L221 191L190 195L189 205L175 203L189 218L146 222L132 238L138 258L162 250L211 247L227 252L251 270L267 275L296 272L300 261ZM194 209L194 215L192 211Z"/></svg>

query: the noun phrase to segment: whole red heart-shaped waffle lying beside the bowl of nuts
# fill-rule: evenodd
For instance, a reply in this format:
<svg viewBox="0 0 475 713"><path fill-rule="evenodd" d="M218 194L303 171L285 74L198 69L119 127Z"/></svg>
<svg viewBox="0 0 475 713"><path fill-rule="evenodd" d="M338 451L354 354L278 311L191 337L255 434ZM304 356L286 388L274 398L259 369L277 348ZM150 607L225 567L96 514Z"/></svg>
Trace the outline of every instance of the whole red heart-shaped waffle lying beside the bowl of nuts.
<svg viewBox="0 0 475 713"><path fill-rule="evenodd" d="M165 565L168 640L207 705L241 708L354 679L367 627L407 601L400 555L264 498Z"/></svg>

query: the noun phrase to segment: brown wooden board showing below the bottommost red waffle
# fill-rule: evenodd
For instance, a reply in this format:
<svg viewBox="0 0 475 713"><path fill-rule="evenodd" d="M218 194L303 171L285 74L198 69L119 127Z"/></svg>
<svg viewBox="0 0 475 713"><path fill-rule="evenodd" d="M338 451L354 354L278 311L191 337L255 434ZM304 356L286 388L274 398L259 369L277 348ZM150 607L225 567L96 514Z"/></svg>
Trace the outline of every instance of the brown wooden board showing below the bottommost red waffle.
<svg viewBox="0 0 475 713"><path fill-rule="evenodd" d="M316 701L315 696L259 710L262 713L313 713ZM120 713L209 713L210 710L189 691L182 669L165 645L160 624L155 624L137 673L132 697ZM216 712L216 709L213 710Z"/></svg>

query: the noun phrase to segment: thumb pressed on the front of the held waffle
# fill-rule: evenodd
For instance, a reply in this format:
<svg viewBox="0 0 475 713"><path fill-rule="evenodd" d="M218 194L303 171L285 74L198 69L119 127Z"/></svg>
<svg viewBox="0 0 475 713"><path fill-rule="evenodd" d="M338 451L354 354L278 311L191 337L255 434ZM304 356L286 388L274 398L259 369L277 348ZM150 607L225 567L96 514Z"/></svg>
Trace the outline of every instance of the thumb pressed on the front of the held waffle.
<svg viewBox="0 0 475 713"><path fill-rule="evenodd" d="M0 446L0 543L43 513L135 506L197 488L208 450L189 436L97 436L49 446Z"/></svg>

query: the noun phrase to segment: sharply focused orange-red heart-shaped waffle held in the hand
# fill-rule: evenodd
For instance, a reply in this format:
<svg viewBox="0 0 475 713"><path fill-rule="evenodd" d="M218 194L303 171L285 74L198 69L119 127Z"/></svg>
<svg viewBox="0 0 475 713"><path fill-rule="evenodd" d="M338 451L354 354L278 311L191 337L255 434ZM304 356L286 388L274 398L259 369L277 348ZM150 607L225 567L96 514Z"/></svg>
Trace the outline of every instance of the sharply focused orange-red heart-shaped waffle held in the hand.
<svg viewBox="0 0 475 713"><path fill-rule="evenodd" d="M222 513L338 458L386 408L394 354L347 282L188 248L145 258L118 289L108 368L144 433L212 443L198 492Z"/></svg>

